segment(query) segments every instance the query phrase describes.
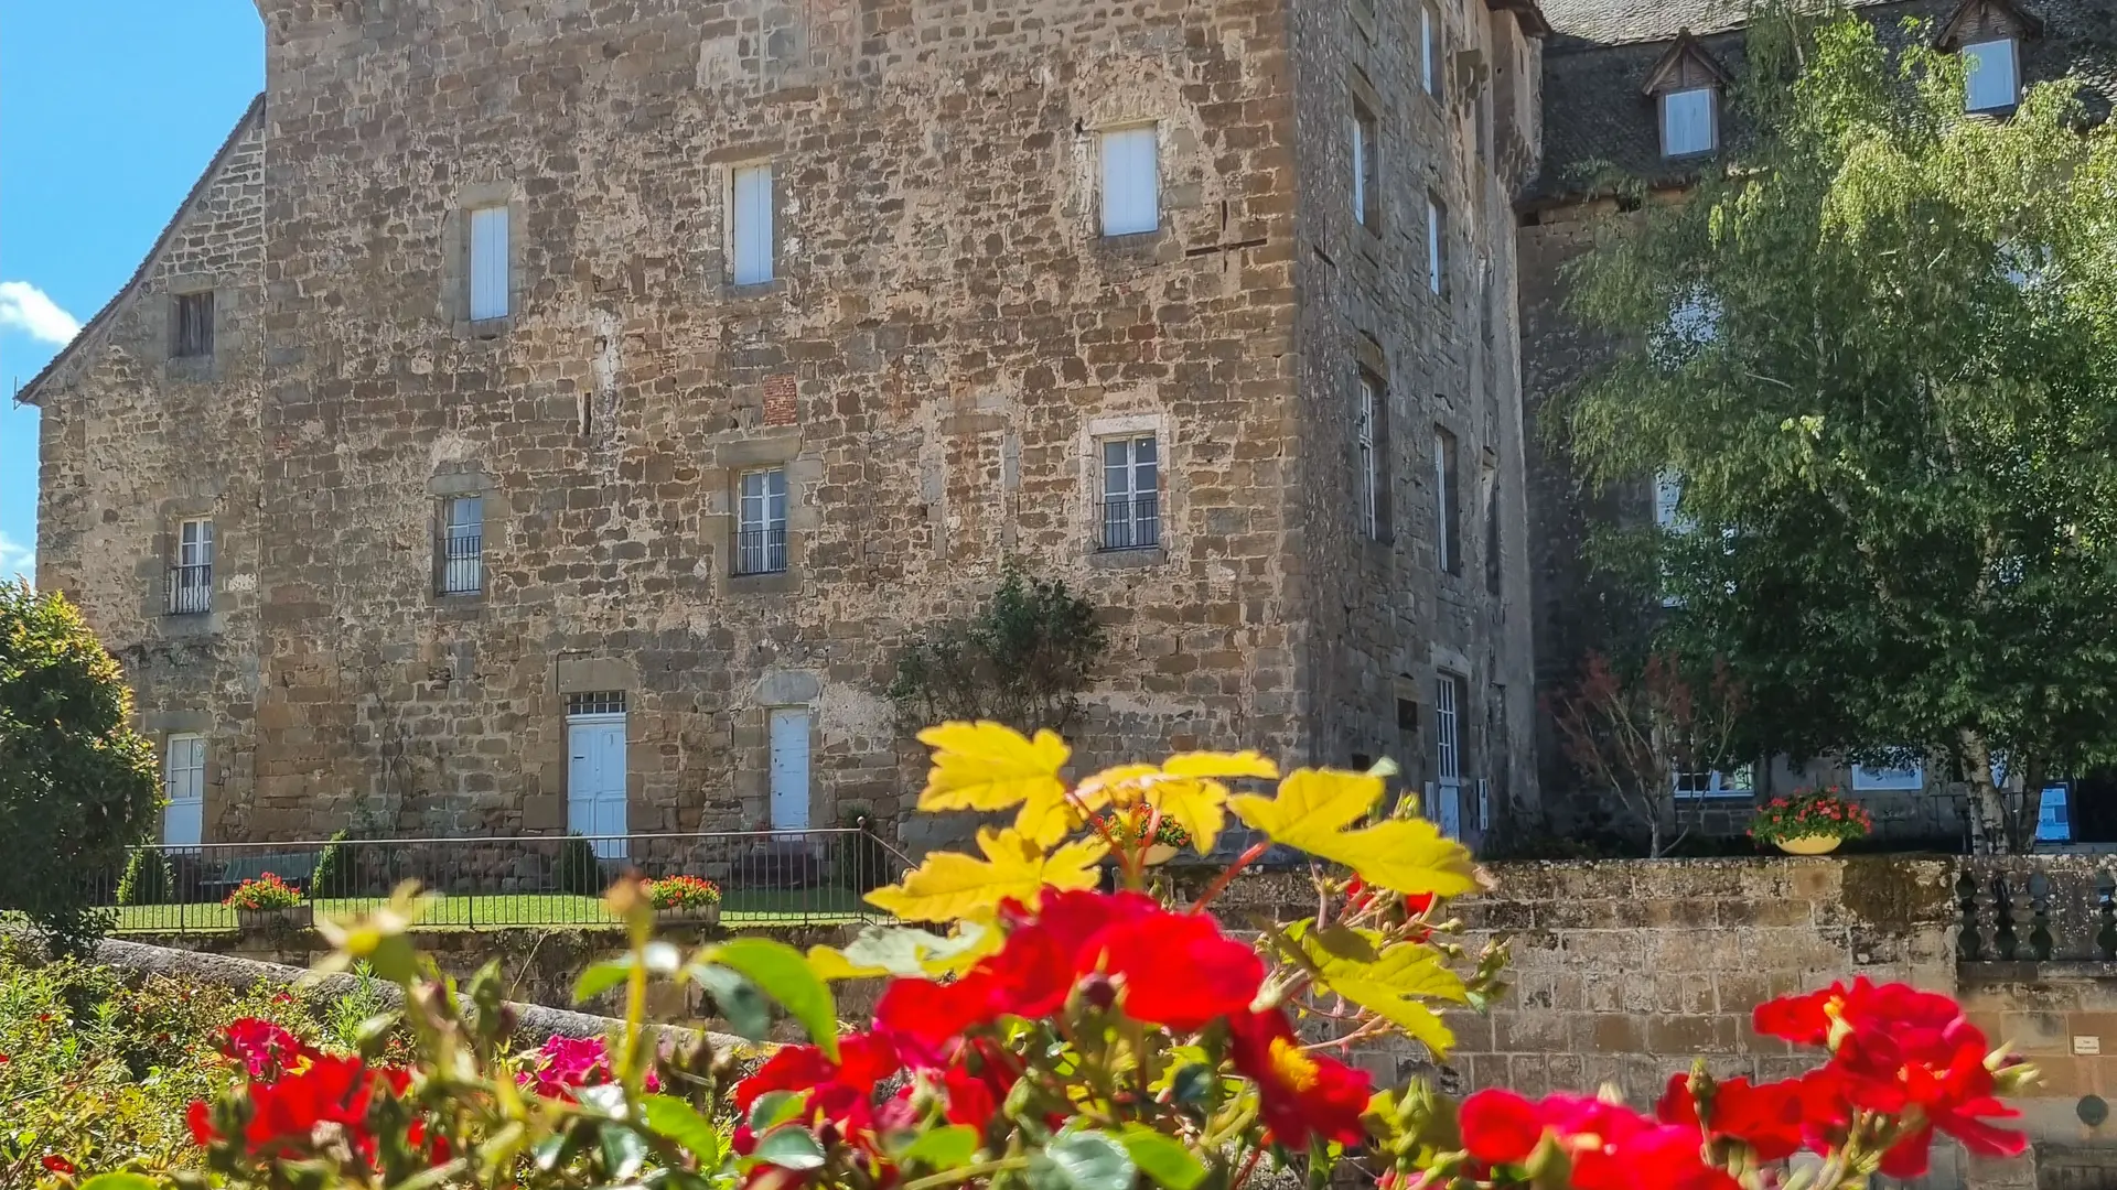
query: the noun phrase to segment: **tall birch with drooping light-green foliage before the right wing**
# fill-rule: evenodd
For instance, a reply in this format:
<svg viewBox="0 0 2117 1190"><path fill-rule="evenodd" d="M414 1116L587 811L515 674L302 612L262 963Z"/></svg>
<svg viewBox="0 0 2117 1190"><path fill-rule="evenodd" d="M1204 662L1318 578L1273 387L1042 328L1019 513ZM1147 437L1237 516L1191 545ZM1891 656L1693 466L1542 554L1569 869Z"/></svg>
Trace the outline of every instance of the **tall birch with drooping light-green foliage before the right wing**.
<svg viewBox="0 0 2117 1190"><path fill-rule="evenodd" d="M1643 349L1567 423L1598 483L1681 476L1672 529L1598 555L1727 656L1761 745L1948 758L2020 847L2043 777L2117 741L2117 140L2075 83L1965 116L1926 34L1753 23L1753 138L1575 265Z"/></svg>

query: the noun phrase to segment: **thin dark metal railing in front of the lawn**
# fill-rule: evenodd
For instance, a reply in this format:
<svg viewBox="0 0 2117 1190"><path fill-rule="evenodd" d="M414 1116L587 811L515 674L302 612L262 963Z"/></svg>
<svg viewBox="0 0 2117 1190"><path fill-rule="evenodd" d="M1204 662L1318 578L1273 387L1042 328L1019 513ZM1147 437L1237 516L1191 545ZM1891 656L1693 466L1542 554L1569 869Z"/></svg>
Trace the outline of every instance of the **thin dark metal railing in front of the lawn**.
<svg viewBox="0 0 2117 1190"><path fill-rule="evenodd" d="M722 925L828 925L885 919L864 894L898 881L906 866L860 828L205 843L138 847L125 870L91 877L91 896L114 910L121 934L237 930L222 902L265 872L307 894L320 915L377 908L415 879L436 896L421 925L610 925L603 889L637 872L713 881Z"/></svg>

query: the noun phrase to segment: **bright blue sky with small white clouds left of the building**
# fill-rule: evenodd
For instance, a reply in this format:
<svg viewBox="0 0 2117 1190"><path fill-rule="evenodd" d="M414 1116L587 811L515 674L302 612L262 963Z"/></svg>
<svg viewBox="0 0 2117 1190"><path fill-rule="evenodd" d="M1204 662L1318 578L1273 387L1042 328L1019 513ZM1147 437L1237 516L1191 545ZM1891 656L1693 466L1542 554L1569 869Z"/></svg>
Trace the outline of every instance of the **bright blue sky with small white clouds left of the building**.
<svg viewBox="0 0 2117 1190"><path fill-rule="evenodd" d="M0 0L0 385L123 286L265 89L252 0ZM36 409L0 400L0 574L32 565Z"/></svg>

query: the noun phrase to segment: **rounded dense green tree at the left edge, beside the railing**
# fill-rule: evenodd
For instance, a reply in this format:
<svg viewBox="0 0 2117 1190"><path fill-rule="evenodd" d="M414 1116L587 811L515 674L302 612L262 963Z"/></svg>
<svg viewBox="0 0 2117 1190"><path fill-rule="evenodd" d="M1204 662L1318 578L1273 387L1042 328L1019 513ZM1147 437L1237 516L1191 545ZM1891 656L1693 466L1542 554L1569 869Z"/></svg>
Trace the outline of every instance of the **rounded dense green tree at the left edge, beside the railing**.
<svg viewBox="0 0 2117 1190"><path fill-rule="evenodd" d="M0 908L55 949L106 927L97 877L155 828L155 750L129 724L131 690L80 612L0 584Z"/></svg>

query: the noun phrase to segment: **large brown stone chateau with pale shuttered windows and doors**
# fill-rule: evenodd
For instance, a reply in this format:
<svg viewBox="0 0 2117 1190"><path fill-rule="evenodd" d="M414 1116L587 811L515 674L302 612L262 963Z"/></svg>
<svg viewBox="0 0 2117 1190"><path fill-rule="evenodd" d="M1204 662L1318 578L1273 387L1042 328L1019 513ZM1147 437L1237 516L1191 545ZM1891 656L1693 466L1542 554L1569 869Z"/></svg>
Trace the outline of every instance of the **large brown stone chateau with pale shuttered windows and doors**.
<svg viewBox="0 0 2117 1190"><path fill-rule="evenodd" d="M1078 767L1537 803L1630 515L1524 436L1607 349L1569 180L1719 148L1740 4L258 8L265 95L23 392L167 841L893 819L895 656L1010 557L1111 633ZM1882 8L2009 87L2117 40Z"/></svg>

